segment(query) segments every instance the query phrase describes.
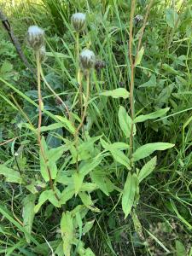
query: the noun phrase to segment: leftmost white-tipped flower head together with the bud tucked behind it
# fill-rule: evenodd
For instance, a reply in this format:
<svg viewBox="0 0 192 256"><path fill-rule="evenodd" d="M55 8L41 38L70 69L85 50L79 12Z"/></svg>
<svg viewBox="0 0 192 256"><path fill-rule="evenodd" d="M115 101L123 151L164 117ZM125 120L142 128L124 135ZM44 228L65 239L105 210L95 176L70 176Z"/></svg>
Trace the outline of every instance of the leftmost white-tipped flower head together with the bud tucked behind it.
<svg viewBox="0 0 192 256"><path fill-rule="evenodd" d="M27 32L27 41L34 51L38 51L40 61L43 62L46 58L44 30L39 26L30 26Z"/></svg>

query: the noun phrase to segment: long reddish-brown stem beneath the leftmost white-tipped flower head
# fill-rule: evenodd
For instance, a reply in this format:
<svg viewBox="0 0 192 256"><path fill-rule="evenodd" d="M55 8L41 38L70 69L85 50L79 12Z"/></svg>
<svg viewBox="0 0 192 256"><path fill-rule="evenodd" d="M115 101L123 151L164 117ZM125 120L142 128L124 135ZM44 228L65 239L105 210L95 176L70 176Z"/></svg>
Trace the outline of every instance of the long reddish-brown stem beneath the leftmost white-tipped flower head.
<svg viewBox="0 0 192 256"><path fill-rule="evenodd" d="M41 143L41 123L42 123L43 101L41 96L41 64L40 64L40 58L39 58L39 51L36 52L36 60L37 60L37 71L38 71L38 145L47 168L50 188L53 190L55 198L59 201L59 196L56 194L49 166L47 166L48 160L44 154L44 148Z"/></svg>

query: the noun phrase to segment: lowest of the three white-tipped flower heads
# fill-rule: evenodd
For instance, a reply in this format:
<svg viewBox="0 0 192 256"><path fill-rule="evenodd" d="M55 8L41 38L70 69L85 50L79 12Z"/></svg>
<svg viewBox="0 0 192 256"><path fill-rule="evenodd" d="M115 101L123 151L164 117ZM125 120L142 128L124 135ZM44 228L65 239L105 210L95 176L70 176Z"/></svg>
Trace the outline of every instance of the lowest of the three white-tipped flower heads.
<svg viewBox="0 0 192 256"><path fill-rule="evenodd" d="M90 69L95 66L96 55L90 49L84 49L80 53L80 64L82 69Z"/></svg>

